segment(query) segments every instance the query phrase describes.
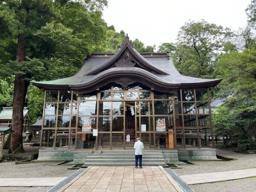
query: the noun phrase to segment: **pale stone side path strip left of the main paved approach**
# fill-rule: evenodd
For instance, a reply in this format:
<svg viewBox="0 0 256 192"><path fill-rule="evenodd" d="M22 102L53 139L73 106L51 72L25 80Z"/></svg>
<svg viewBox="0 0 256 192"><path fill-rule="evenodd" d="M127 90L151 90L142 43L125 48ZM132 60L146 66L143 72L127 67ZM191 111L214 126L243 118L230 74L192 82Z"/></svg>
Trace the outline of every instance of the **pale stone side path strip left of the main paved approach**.
<svg viewBox="0 0 256 192"><path fill-rule="evenodd" d="M66 177L0 178L0 186L55 186Z"/></svg>

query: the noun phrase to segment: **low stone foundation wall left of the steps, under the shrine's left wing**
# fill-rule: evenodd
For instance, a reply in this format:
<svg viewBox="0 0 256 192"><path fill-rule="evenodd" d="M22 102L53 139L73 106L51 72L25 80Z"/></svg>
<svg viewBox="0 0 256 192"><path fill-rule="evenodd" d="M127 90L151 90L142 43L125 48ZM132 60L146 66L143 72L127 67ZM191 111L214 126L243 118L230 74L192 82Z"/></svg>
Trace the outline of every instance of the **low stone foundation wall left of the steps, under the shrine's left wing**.
<svg viewBox="0 0 256 192"><path fill-rule="evenodd" d="M39 149L38 160L73 161L74 149Z"/></svg>

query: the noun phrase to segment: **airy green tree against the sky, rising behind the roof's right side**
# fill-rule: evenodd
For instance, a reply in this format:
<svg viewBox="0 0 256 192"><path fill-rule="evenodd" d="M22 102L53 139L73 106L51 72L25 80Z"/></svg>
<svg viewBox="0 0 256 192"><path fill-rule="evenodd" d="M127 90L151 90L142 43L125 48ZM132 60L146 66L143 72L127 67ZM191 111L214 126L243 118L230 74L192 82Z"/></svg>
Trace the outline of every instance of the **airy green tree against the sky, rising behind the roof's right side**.
<svg viewBox="0 0 256 192"><path fill-rule="evenodd" d="M205 20L189 21L180 28L177 37L176 64L186 76L211 78L214 63L233 33Z"/></svg>

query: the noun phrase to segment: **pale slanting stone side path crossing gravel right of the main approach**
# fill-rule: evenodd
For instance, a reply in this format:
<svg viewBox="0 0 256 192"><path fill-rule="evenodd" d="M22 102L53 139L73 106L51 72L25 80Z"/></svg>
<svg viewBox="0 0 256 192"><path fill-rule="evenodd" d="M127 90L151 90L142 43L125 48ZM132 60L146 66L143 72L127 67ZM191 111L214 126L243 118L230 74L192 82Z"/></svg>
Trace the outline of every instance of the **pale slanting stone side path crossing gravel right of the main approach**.
<svg viewBox="0 0 256 192"><path fill-rule="evenodd" d="M211 183L224 180L242 179L246 177L256 176L256 168L241 169L227 172L213 172L193 175L179 175L179 177L188 185L199 183Z"/></svg>

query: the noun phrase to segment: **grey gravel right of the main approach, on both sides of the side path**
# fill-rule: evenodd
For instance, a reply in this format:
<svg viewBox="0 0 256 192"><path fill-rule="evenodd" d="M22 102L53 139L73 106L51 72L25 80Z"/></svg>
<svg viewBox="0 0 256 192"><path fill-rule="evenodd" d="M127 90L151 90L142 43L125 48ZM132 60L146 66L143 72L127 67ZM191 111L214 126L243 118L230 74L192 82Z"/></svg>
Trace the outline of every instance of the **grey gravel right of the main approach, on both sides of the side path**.
<svg viewBox="0 0 256 192"><path fill-rule="evenodd" d="M216 149L216 154L235 158L232 161L193 161L197 165L180 166L172 169L177 175L222 172L256 167L256 154L242 154L230 150ZM256 177L228 180L216 183L189 185L195 192L255 192Z"/></svg>

